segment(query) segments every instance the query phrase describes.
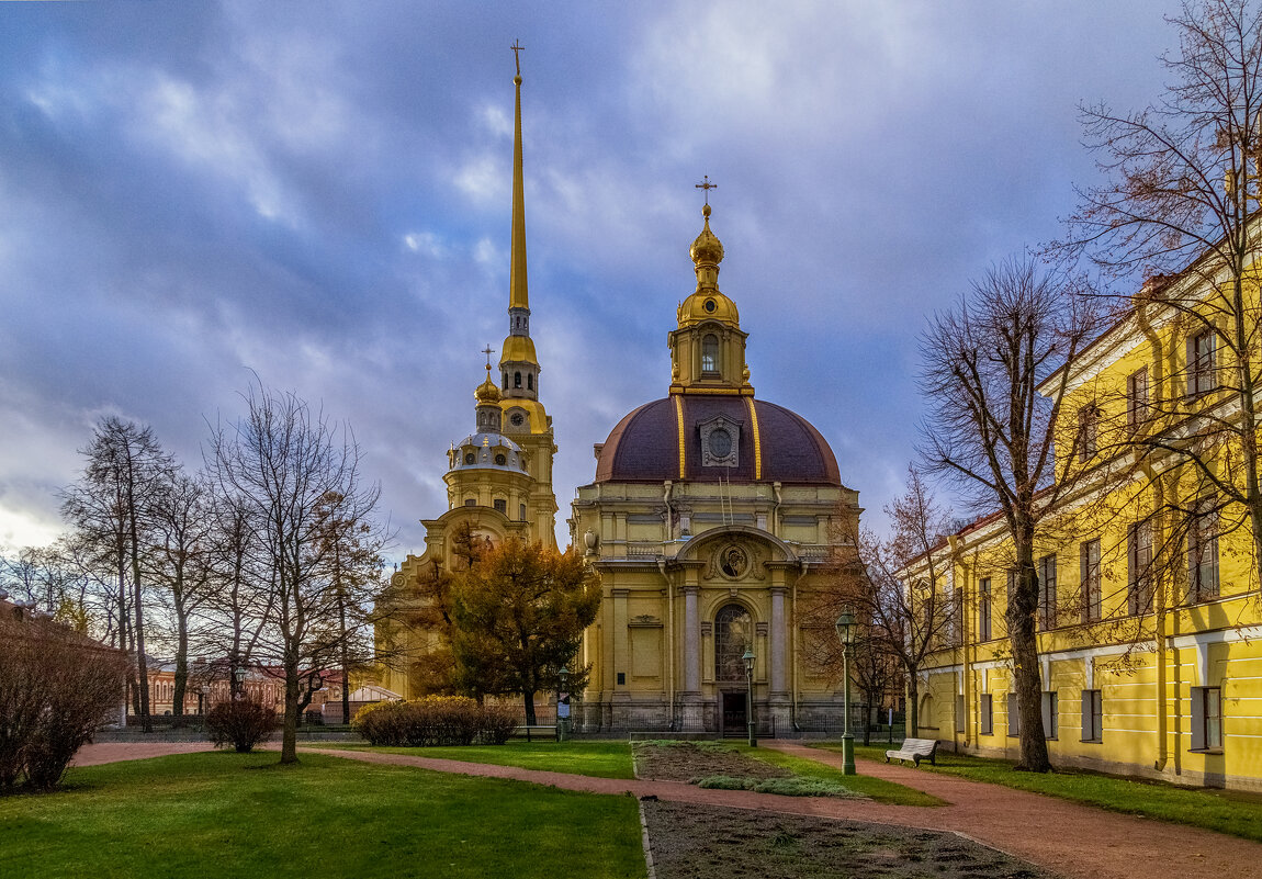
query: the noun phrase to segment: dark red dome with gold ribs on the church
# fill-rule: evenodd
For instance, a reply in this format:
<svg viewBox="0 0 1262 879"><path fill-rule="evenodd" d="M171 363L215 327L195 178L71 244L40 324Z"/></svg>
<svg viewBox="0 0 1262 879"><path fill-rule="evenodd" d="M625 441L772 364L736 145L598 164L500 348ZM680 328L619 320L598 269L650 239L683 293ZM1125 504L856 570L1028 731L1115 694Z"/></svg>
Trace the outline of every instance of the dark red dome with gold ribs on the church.
<svg viewBox="0 0 1262 879"><path fill-rule="evenodd" d="M718 422L737 428L734 467L702 463L702 430ZM747 396L675 395L645 404L617 424L596 465L596 482L712 482L719 477L842 484L833 450L806 419Z"/></svg>

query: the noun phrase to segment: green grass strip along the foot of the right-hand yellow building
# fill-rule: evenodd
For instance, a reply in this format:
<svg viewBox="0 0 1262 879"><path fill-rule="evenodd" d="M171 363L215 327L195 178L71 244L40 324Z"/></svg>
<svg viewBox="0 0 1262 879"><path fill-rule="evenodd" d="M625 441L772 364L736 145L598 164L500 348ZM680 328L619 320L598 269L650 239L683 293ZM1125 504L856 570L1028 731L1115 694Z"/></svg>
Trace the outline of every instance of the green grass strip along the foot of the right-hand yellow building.
<svg viewBox="0 0 1262 879"><path fill-rule="evenodd" d="M840 744L819 745L840 750ZM883 760L888 745L854 745L856 757ZM1082 769L1041 774L1013 772L1012 763L938 752L938 765L921 763L923 772L940 772L978 782L1045 793L1147 818L1217 830L1262 842L1262 796L1237 791L1182 788L1164 782L1135 781Z"/></svg>

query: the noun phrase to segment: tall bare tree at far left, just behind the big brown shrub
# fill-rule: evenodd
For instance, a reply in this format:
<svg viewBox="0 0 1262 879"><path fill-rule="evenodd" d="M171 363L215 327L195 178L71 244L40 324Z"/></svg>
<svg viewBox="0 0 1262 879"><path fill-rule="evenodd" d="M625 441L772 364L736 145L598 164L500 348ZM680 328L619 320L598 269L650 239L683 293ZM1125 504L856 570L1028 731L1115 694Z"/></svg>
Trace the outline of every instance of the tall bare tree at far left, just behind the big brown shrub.
<svg viewBox="0 0 1262 879"><path fill-rule="evenodd" d="M144 730L149 719L149 673L145 656L145 576L143 554L154 504L170 483L174 463L148 426L116 416L101 420L82 454L87 467L62 492L62 515L85 541L109 554L117 576L120 632L130 622L136 663L136 695ZM127 617L130 602L130 619Z"/></svg>

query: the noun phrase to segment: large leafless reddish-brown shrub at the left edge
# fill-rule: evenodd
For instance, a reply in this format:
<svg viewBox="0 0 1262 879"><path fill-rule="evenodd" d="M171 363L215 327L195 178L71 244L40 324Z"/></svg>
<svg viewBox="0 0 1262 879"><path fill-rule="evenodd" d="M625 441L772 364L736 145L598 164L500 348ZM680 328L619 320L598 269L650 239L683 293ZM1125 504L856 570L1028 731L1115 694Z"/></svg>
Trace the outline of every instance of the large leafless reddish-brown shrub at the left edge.
<svg viewBox="0 0 1262 879"><path fill-rule="evenodd" d="M0 622L0 791L48 791L122 705L125 656L47 619Z"/></svg>

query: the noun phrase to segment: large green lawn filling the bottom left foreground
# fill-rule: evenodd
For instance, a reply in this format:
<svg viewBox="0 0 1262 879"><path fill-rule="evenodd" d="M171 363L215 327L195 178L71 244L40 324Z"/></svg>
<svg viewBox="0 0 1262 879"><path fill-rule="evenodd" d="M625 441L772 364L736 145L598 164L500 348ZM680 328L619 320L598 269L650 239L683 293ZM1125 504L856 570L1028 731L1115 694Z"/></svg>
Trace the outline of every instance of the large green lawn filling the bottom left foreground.
<svg viewBox="0 0 1262 879"><path fill-rule="evenodd" d="M0 797L0 876L644 876L636 801L305 754L71 769Z"/></svg>

